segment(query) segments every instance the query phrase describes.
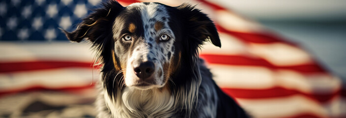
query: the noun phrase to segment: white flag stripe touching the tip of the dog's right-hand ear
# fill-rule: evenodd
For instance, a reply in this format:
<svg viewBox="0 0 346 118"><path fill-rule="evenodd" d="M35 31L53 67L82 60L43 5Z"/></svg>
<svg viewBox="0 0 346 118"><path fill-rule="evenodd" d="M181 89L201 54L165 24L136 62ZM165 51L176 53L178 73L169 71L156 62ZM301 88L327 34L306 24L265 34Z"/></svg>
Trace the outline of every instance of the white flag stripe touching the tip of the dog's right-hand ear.
<svg viewBox="0 0 346 118"><path fill-rule="evenodd" d="M201 54L244 55L266 59L278 66L312 63L310 55L302 49L285 43L244 43L227 33L220 33L221 48L205 43Z"/></svg>

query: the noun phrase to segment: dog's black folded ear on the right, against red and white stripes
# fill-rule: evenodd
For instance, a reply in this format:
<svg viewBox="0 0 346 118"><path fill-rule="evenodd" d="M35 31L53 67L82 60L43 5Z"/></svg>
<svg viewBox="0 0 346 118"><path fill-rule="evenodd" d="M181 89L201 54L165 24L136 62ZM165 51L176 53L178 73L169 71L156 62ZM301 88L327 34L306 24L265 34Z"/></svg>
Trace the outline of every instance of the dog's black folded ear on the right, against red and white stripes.
<svg viewBox="0 0 346 118"><path fill-rule="evenodd" d="M190 40L201 45L204 41L210 39L215 46L221 47L215 25L206 14L187 3L181 4L177 9L179 11L178 15L183 21L184 31L189 35Z"/></svg>

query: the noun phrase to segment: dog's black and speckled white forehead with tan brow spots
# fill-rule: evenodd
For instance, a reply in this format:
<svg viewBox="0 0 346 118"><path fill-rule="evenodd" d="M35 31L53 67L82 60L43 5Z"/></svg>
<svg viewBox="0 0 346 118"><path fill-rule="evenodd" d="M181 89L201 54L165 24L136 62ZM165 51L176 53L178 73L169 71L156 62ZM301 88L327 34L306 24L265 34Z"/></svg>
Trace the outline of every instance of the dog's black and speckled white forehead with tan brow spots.
<svg viewBox="0 0 346 118"><path fill-rule="evenodd" d="M174 37L169 26L170 14L166 5L154 2L133 3L125 8L121 19L123 17L127 19L124 21L126 25L123 29L131 33L137 29L139 31L137 34L144 34L145 39L150 40L150 37L162 33L171 34Z"/></svg>

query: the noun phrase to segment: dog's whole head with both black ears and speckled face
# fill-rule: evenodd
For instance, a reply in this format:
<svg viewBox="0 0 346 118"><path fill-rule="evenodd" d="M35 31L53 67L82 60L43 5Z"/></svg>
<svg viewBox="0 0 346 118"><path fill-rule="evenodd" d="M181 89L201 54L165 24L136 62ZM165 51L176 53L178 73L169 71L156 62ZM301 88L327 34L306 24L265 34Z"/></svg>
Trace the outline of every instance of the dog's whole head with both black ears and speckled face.
<svg viewBox="0 0 346 118"><path fill-rule="evenodd" d="M136 89L162 88L178 71L190 71L179 68L196 64L198 48L206 40L221 47L213 22L187 4L146 2L123 7L109 1L75 31L63 31L71 41L91 41L104 64L102 71L114 71L120 79L116 82Z"/></svg>

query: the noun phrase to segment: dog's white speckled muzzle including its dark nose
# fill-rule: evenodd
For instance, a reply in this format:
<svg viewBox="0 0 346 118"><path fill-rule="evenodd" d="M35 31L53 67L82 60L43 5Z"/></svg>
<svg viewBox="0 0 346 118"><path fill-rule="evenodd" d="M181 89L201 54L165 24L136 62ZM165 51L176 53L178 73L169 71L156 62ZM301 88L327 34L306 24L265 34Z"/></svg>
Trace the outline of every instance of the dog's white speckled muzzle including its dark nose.
<svg viewBox="0 0 346 118"><path fill-rule="evenodd" d="M141 45L140 45L141 46ZM140 48L138 46L138 48ZM143 47L147 48L144 49ZM142 46L134 49L126 66L125 84L136 89L161 88L165 85L163 66L155 57L156 50Z"/></svg>

